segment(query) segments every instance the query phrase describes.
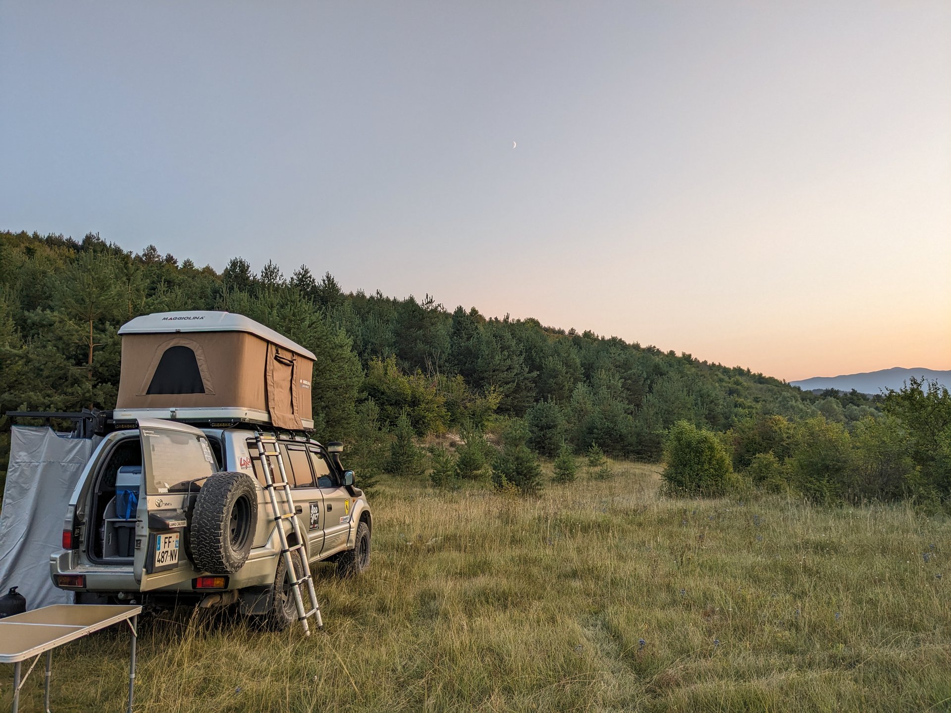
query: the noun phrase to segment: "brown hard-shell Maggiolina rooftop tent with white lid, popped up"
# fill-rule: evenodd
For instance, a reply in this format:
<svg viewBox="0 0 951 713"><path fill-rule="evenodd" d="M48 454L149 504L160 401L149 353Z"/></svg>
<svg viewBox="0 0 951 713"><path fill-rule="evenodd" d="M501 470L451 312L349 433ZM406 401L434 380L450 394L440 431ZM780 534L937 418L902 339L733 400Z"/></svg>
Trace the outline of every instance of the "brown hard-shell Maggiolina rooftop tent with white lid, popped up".
<svg viewBox="0 0 951 713"><path fill-rule="evenodd" d="M314 424L314 355L253 319L229 312L164 312L134 318L119 334L116 418L164 413L238 417L287 429Z"/></svg>

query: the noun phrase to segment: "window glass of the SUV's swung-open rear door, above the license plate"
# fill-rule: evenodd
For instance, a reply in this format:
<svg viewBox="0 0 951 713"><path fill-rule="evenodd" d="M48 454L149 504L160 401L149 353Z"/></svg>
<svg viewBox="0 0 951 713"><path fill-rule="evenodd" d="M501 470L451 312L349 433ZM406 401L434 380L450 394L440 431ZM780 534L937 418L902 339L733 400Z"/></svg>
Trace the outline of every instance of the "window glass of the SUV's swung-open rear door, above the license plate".
<svg viewBox="0 0 951 713"><path fill-rule="evenodd" d="M218 470L204 435L165 429L143 429L146 492L182 491L184 483Z"/></svg>

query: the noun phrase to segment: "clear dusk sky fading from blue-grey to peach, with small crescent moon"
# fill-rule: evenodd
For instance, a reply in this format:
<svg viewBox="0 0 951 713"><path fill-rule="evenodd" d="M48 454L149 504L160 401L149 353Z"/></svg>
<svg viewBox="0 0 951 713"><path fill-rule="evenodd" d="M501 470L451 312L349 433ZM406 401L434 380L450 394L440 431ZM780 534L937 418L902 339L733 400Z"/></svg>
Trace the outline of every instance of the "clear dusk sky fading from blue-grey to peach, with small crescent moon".
<svg viewBox="0 0 951 713"><path fill-rule="evenodd" d="M0 229L951 369L951 3L0 4Z"/></svg>

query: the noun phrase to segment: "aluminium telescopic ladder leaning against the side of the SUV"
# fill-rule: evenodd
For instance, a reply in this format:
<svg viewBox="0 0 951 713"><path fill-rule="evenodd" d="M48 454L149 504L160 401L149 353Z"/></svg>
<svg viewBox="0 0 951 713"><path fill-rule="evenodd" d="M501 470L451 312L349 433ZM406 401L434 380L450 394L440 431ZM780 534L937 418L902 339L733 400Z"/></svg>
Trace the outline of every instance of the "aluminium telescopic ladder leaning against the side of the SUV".
<svg viewBox="0 0 951 713"><path fill-rule="evenodd" d="M281 557L284 558L284 568L287 572L287 576L291 581L291 590L294 592L294 604L298 610L298 620L303 626L303 635L310 636L310 626L307 626L307 619L311 616L315 617L315 622L317 627L320 628L323 626L323 621L320 619L320 605L317 603L317 595L314 593L314 578L310 573L310 564L307 562L307 550L303 546L303 536L301 535L301 523L298 521L297 512L294 508L294 498L291 496L291 486L290 482L287 480L287 471L284 470L284 460L281 457L281 449L278 448L278 439L274 436L262 435L260 431L255 432L254 434L255 445L258 447L258 456L261 460L261 471L264 474L264 489L267 491L271 500L271 512L274 516L274 522L278 526L278 538L281 541ZM267 446L271 446L274 450L268 451ZM278 461L278 471L281 473L281 482L275 482L273 473L271 472L271 466L267 460L268 456L277 458ZM278 501L277 493L275 492L276 488L283 488L284 499L283 505L286 510L281 511L281 503ZM294 532L294 536L297 538L297 544L293 547L288 547L287 545L287 533L284 532L284 520L291 521L291 530ZM302 575L300 578L297 576L297 571L294 568L294 558L291 556L291 552L295 549L301 550L301 553L298 555L301 560L301 572ZM303 594L301 592L301 585L307 583L307 594L310 595L311 606L314 607L307 611L303 607ZM275 582L275 588L278 587L278 583ZM274 596L278 596L278 592L275 589Z"/></svg>

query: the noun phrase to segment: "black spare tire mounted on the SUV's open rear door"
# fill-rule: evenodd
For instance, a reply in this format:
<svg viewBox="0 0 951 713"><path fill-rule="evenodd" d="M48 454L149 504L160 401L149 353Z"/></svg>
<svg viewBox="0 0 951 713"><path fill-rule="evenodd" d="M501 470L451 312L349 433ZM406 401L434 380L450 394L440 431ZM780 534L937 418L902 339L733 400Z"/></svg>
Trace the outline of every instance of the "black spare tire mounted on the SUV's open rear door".
<svg viewBox="0 0 951 713"><path fill-rule="evenodd" d="M192 562L199 571L234 574L251 551L258 525L258 490L243 472L219 472L204 481L191 514Z"/></svg>

